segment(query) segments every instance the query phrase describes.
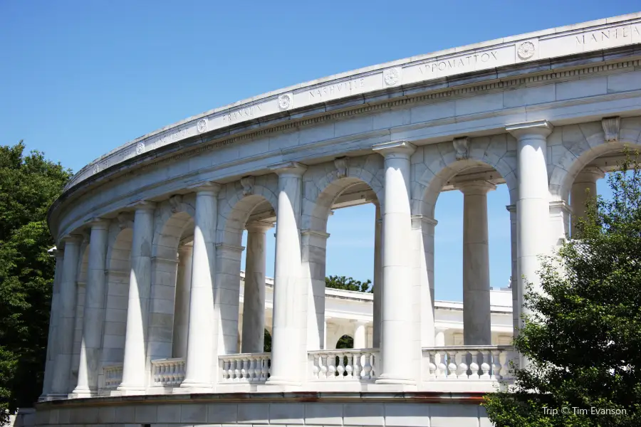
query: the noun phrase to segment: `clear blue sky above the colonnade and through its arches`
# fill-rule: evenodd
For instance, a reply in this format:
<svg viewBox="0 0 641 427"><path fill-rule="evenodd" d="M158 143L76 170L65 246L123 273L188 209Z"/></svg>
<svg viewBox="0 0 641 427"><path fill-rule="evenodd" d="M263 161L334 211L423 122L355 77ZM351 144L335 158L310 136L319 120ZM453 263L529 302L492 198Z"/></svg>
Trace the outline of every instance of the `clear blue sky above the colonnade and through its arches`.
<svg viewBox="0 0 641 427"><path fill-rule="evenodd" d="M74 171L213 107L354 68L640 9L638 1L0 0L0 144ZM605 181L600 182L600 189ZM510 275L489 194L491 282ZM462 299L462 194L437 211L436 297ZM372 278L372 206L330 218L327 273ZM273 273L273 236L268 273Z"/></svg>

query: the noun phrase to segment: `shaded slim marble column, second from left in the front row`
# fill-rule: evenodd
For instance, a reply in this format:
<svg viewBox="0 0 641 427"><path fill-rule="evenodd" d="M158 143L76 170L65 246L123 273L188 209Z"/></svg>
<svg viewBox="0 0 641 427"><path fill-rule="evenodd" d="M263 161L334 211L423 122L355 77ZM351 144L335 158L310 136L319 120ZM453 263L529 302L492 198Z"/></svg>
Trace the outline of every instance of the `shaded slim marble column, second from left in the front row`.
<svg viewBox="0 0 641 427"><path fill-rule="evenodd" d="M78 292L78 260L82 236L63 238L64 260L63 277L60 283L60 305L58 314L58 330L56 342L56 364L51 384L52 397L67 397L69 393L69 374L71 372L71 356L73 352L73 330L75 329L75 299Z"/></svg>

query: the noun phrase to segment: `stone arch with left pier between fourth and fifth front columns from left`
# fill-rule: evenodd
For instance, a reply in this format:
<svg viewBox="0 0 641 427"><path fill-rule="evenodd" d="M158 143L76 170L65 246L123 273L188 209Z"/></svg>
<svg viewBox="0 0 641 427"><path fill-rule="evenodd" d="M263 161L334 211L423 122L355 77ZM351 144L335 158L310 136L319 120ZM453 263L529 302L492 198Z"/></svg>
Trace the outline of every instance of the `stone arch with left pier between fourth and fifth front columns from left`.
<svg viewBox="0 0 641 427"><path fill-rule="evenodd" d="M172 357L176 305L178 247L193 235L194 194L174 195L162 201L155 211L152 243L152 283L149 305L147 357ZM189 283L181 283L189 286ZM180 331L185 334L186 331Z"/></svg>

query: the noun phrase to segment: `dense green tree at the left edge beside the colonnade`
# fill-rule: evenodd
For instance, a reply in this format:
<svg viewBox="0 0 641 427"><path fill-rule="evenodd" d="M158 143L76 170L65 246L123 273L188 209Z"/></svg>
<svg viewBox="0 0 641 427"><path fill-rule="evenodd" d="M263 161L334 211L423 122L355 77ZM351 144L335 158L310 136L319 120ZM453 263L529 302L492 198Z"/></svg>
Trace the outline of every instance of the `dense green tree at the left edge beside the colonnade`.
<svg viewBox="0 0 641 427"><path fill-rule="evenodd" d="M22 141L0 147L2 410L32 406L42 391L55 267L46 215L70 177L41 152L25 156Z"/></svg>

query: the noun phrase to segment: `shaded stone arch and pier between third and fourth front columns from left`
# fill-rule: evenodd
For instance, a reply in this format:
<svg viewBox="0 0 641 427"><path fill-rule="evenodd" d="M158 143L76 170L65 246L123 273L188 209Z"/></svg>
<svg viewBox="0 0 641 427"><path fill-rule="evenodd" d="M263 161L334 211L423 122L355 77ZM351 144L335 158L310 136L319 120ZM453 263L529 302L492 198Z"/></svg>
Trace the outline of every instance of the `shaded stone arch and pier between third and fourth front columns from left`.
<svg viewBox="0 0 641 427"><path fill-rule="evenodd" d="M127 327L127 300L129 297L130 255L133 238L131 221L113 221L108 231L107 246L107 295L105 298L105 324L103 353L104 365L122 363L125 352ZM99 369L99 376L103 370Z"/></svg>

